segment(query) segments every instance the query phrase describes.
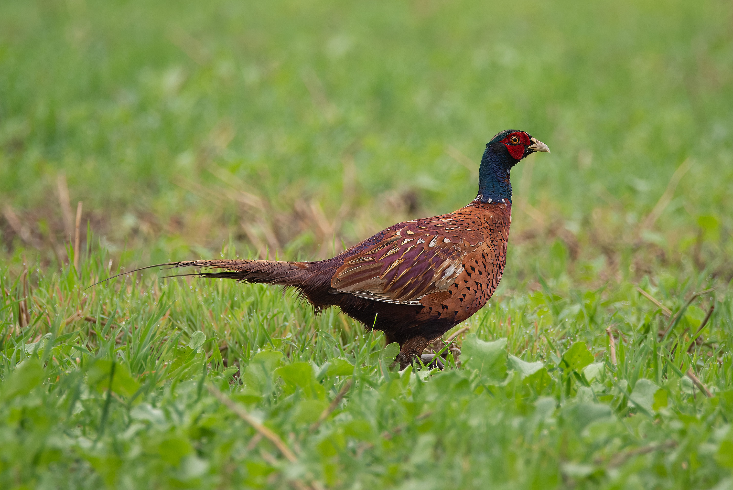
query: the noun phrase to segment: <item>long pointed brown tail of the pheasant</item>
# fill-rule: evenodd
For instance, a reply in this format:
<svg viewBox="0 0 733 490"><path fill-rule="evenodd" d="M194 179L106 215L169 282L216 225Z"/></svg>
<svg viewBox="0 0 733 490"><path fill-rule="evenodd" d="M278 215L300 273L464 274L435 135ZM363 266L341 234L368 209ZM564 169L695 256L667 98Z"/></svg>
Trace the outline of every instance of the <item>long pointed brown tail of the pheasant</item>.
<svg viewBox="0 0 733 490"><path fill-rule="evenodd" d="M309 278L309 267L307 262L279 262L273 260L191 260L182 262L168 262L167 264L149 265L136 270L122 272L113 275L99 283L119 278L121 275L132 274L140 270L152 269L153 267L201 267L203 269L221 269L221 272L194 272L192 274L177 274L166 277L193 276L196 278L226 278L243 281L246 283L268 283L281 284L284 286L299 286ZM92 287L89 286L89 287Z"/></svg>

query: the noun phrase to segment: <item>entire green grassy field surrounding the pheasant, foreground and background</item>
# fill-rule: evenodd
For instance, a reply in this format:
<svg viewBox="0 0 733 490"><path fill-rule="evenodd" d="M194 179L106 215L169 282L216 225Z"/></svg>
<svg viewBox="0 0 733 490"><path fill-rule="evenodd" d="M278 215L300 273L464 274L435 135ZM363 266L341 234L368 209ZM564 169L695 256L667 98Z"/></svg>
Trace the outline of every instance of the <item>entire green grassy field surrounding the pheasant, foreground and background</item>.
<svg viewBox="0 0 733 490"><path fill-rule="evenodd" d="M730 488L732 16L0 4L0 488ZM552 154L515 169L507 270L445 371L399 374L380 333L278 288L86 289L457 209L460 154L508 127Z"/></svg>

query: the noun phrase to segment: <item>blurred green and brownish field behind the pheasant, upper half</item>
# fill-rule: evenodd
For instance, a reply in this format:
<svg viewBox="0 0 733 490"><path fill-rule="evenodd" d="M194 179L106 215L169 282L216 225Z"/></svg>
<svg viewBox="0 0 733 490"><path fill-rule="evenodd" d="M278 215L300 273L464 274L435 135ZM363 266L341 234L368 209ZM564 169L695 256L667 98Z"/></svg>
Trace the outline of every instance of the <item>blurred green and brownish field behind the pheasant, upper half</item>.
<svg viewBox="0 0 733 490"><path fill-rule="evenodd" d="M467 204L484 144L517 128L553 151L512 175L517 267L557 239L733 275L732 18L729 1L5 1L2 253L50 262L55 240L65 260L63 172L113 252L232 237L325 257Z"/></svg>

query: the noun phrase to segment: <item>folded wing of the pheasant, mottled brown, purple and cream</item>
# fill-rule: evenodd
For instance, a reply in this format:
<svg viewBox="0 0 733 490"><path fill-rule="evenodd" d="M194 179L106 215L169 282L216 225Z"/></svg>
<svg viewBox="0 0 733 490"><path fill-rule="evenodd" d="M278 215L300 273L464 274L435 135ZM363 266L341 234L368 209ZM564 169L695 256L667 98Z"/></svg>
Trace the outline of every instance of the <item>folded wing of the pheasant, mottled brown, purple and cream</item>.
<svg viewBox="0 0 733 490"><path fill-rule="evenodd" d="M475 221L474 221L475 223ZM408 221L382 240L348 257L331 278L339 293L386 302L419 304L446 291L485 240L479 223L451 215Z"/></svg>

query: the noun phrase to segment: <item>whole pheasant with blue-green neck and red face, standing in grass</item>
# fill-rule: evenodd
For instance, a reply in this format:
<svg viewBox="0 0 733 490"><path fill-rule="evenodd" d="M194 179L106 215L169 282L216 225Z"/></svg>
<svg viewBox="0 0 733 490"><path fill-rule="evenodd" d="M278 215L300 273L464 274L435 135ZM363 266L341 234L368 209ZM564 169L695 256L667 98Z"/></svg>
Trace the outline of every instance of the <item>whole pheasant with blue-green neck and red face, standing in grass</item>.
<svg viewBox="0 0 733 490"><path fill-rule="evenodd" d="M486 145L479 193L471 203L447 215L397 223L332 259L194 260L143 269L216 268L189 275L295 287L316 311L338 306L367 329L382 330L387 344L399 344L397 360L405 369L496 291L512 215L509 171L533 152L550 149L524 131L498 133Z"/></svg>

